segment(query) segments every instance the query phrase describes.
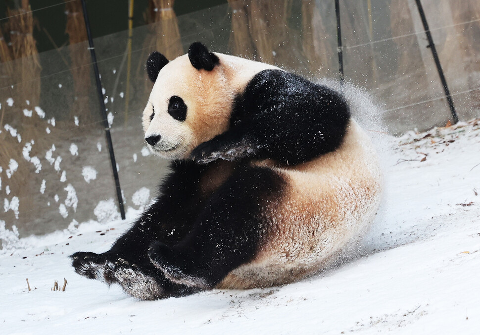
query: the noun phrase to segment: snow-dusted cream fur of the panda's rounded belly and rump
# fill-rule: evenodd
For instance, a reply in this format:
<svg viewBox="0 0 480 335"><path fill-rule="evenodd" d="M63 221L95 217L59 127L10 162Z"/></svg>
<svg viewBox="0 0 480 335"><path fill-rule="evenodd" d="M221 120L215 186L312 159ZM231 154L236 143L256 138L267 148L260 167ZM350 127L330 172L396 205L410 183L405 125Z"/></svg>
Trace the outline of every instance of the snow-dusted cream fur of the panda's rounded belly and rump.
<svg viewBox="0 0 480 335"><path fill-rule="evenodd" d="M286 181L283 197L264 205L264 234L254 259L233 270L219 288L285 284L335 262L373 221L381 172L372 143L351 121L341 147L295 167L270 166Z"/></svg>

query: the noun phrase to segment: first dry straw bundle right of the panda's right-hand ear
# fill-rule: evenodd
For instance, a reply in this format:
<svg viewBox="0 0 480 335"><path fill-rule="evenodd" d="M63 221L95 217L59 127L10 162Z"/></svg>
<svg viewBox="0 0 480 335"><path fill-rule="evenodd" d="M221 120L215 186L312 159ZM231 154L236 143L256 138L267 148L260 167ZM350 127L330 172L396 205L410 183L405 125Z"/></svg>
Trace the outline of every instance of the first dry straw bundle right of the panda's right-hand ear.
<svg viewBox="0 0 480 335"><path fill-rule="evenodd" d="M249 1L248 1L249 2ZM245 0L228 0L232 8L232 30L230 32L230 50L235 56L253 59L255 46L248 30L247 5Z"/></svg>

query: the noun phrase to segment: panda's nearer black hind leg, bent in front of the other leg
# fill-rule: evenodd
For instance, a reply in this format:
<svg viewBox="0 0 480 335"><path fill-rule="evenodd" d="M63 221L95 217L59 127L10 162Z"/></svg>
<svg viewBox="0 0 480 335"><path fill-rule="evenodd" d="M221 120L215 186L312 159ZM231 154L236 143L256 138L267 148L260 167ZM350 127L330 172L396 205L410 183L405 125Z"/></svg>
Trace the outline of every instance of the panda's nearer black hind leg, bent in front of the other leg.
<svg viewBox="0 0 480 335"><path fill-rule="evenodd" d="M178 284L208 289L251 261L264 235L265 213L281 200L285 180L270 168L240 166L214 192L192 231L177 245L155 241L148 256Z"/></svg>

